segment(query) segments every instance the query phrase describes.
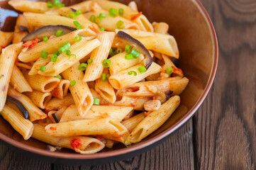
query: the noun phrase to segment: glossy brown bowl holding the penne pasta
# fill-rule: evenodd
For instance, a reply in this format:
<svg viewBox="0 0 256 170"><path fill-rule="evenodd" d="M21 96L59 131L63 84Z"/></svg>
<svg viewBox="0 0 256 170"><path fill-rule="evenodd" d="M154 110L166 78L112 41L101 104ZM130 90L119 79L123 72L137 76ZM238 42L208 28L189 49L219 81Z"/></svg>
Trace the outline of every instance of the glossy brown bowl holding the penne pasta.
<svg viewBox="0 0 256 170"><path fill-rule="evenodd" d="M67 1L67 5L78 1ZM128 0L121 0L128 4ZM23 140L8 122L0 118L0 139L7 144L37 155L40 159L64 164L101 164L128 159L159 145L160 142L174 134L191 118L206 98L213 84L218 63L218 42L216 33L204 6L199 0L136 0L138 8L148 16L150 21L163 21L169 24L169 33L174 35L179 46L178 65L189 79L187 89L181 95L181 105L171 118L142 142L125 148L117 145L113 149L104 149L96 154L77 154L63 149L61 152L48 152L46 144L38 140ZM8 8L6 1L0 6ZM15 16L3 9L1 16ZM1 17L3 19L4 17ZM3 30L13 29L15 19L7 17ZM4 20L1 21L4 23Z"/></svg>

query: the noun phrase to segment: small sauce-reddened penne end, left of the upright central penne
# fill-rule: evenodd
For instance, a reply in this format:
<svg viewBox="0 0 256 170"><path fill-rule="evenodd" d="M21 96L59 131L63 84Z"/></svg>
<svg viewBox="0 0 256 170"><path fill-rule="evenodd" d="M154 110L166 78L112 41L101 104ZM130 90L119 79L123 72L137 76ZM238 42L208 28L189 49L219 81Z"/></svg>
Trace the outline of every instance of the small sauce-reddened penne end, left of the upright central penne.
<svg viewBox="0 0 256 170"><path fill-rule="evenodd" d="M63 99L65 96L67 96L69 85L70 81L61 79L59 85L57 85L57 87L51 91L52 96Z"/></svg>

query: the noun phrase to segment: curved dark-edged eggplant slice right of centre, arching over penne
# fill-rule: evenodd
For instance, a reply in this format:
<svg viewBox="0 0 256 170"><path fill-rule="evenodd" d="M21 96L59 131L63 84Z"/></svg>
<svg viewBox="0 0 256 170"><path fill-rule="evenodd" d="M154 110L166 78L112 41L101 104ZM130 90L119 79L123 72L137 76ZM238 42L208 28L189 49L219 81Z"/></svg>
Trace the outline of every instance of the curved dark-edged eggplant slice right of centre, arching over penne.
<svg viewBox="0 0 256 170"><path fill-rule="evenodd" d="M148 49L138 40L135 38L131 37L127 33L124 33L123 31L119 30L117 33L117 40L120 40L121 42L126 42L130 46L132 46L135 50L140 52L145 56L145 59L143 60L143 65L146 69L150 67L150 65L153 62L153 59L150 55L150 52Z"/></svg>

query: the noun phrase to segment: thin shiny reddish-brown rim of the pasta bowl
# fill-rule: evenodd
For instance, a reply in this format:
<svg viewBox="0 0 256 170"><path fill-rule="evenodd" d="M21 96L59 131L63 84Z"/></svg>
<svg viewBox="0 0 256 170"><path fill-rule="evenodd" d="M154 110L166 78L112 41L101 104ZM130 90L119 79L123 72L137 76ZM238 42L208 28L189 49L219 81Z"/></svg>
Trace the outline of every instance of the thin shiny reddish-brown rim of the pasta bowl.
<svg viewBox="0 0 256 170"><path fill-rule="evenodd" d="M213 69L211 70L211 76L208 79L208 83L206 84L206 89L204 90L204 93L202 94L201 98L196 102L196 104L190 109L190 111L187 113L187 115L184 116L179 122L175 123L172 125L172 127L167 128L165 131L161 132L160 134L156 135L155 137L152 137L149 140L146 140L144 142L140 142L132 147L128 148L122 148L122 149L117 149L113 151L108 151L108 152L99 152L95 154L77 154L77 153L59 153L59 152L48 152L43 149L39 149L36 147L31 147L30 145L23 144L21 142L18 142L16 140L13 140L11 137L8 137L2 133L0 133L0 139L6 142L9 145L13 145L14 147L17 147L18 149L27 151L27 152L32 152L34 154L39 154L45 157L54 157L57 159L77 159L77 160L86 160L86 159L103 159L106 157L117 157L118 155L123 155L123 154L129 154L131 152L138 151L140 149L149 147L150 145L154 145L155 143L165 139L169 135L171 135L173 132L178 130L179 128L184 125L193 115L194 113L198 110L198 108L201 106L201 103L205 100L208 92L211 89L211 86L213 84L214 78L216 76L216 71L217 71L217 66L218 66L218 40L216 36L216 31L213 27L213 23L211 21L211 18L208 16L208 13L206 9L204 8L203 4L201 4L201 1L195 0L194 1L196 6L199 7L201 12L203 13L204 17L207 20L207 23L209 27L211 28L211 34L213 36L213 41L214 41L214 58L213 58Z"/></svg>

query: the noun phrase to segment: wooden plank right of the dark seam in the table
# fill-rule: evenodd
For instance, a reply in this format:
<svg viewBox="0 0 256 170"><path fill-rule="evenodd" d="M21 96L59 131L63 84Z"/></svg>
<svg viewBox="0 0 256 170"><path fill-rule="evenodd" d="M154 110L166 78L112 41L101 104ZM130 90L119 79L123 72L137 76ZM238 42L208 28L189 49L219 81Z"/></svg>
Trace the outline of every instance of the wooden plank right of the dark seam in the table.
<svg viewBox="0 0 256 170"><path fill-rule="evenodd" d="M216 80L194 118L196 169L255 169L255 1L202 0L216 28Z"/></svg>

